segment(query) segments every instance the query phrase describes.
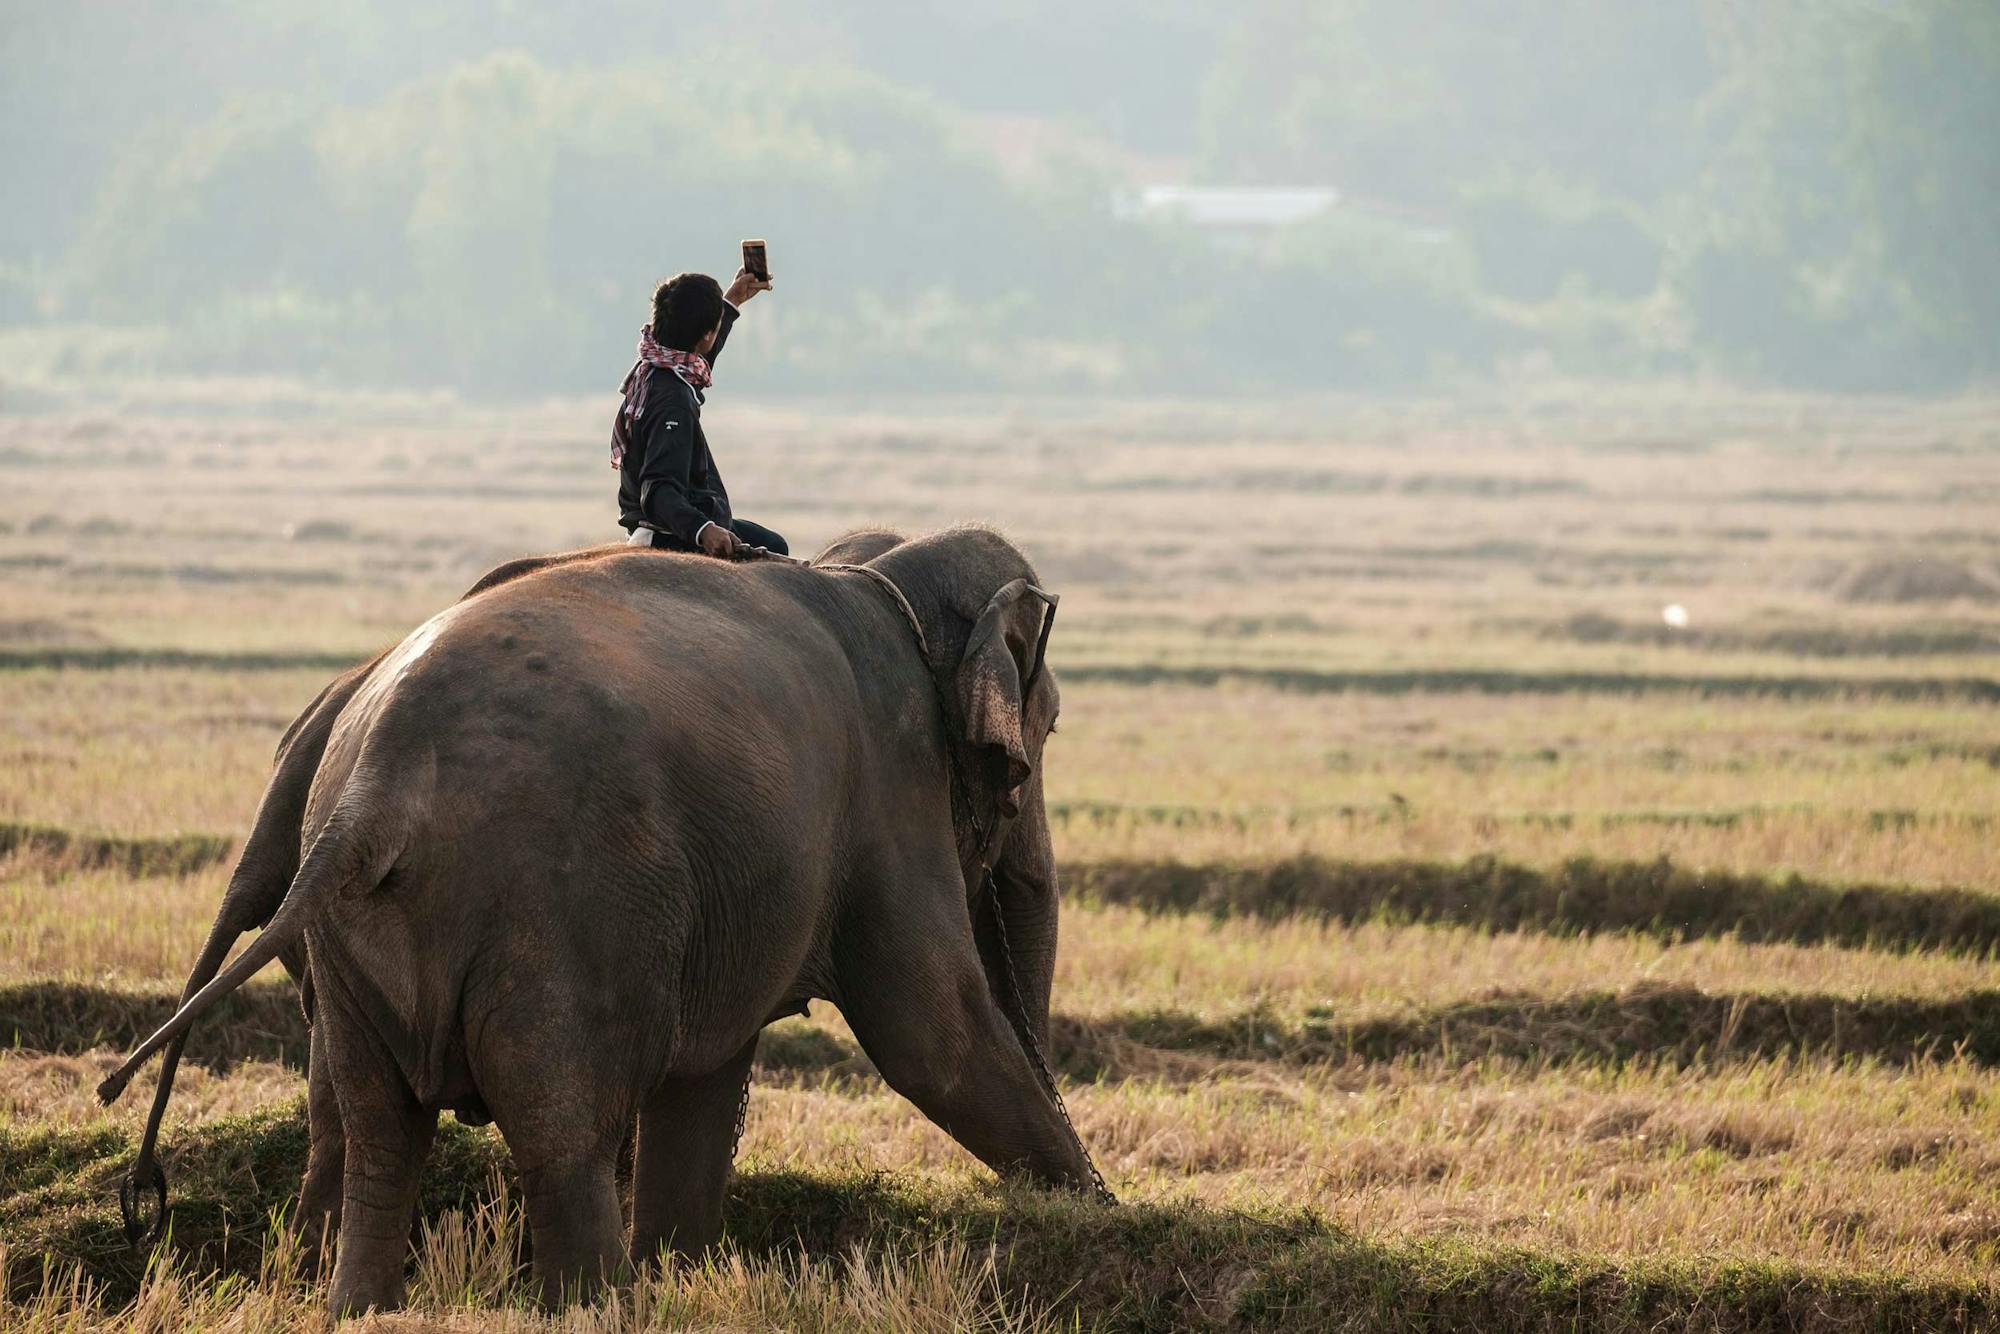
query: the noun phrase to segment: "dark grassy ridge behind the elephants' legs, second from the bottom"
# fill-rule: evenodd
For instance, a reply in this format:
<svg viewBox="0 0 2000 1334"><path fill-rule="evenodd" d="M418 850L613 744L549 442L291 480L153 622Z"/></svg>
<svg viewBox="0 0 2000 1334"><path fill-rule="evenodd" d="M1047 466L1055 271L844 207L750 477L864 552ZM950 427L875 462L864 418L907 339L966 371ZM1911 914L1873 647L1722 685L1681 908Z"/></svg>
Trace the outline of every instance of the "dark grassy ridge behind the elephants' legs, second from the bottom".
<svg viewBox="0 0 2000 1334"><path fill-rule="evenodd" d="M0 1038L28 1052L132 1048L174 1012L170 992L38 982L0 988ZM292 988L250 986L196 1026L186 1060L228 1070L244 1060L302 1064L306 1022ZM1080 1080L1198 1076L1216 1060L1344 1064L1520 1060L1536 1066L1670 1066L1728 1060L1870 1058L1900 1066L1962 1056L2000 1066L2000 992L1914 996L1708 994L1690 986L1506 994L1346 1020L1328 1010L1250 1006L1222 1018L1182 1010L1056 1014L1050 1058ZM758 1068L810 1076L872 1070L850 1040L784 1024L766 1030Z"/></svg>

